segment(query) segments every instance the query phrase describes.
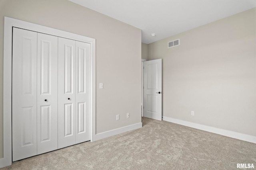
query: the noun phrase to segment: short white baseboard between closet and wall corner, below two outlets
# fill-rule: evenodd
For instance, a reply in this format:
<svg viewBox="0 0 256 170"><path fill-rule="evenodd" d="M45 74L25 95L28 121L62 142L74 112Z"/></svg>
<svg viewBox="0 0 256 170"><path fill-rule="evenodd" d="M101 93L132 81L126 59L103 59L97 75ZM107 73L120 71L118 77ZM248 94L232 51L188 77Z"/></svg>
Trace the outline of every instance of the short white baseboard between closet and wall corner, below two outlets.
<svg viewBox="0 0 256 170"><path fill-rule="evenodd" d="M136 123L136 124L125 126L125 127L120 127L118 129L113 129L111 131L98 133L98 134L95 135L95 141L98 141L100 139L104 139L104 138L107 138L107 137L111 137L111 136L114 136L114 135L118 135L120 133L128 132L128 131L131 131L131 130L134 130L134 129L139 129L141 127L142 127L142 123L140 122L140 123Z"/></svg>

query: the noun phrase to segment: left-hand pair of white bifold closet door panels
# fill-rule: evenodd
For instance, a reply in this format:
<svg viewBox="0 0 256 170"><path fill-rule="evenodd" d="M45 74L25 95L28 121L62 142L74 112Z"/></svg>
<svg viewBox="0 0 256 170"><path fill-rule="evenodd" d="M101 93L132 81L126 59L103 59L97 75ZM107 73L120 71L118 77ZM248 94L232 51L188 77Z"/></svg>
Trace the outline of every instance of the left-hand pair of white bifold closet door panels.
<svg viewBox="0 0 256 170"><path fill-rule="evenodd" d="M58 149L58 37L13 29L13 161Z"/></svg>

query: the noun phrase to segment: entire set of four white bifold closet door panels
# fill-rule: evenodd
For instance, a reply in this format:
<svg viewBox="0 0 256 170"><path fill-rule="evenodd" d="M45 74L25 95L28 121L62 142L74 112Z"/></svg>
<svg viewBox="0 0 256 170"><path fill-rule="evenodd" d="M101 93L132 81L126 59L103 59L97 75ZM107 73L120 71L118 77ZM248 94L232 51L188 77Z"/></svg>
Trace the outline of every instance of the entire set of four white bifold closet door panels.
<svg viewBox="0 0 256 170"><path fill-rule="evenodd" d="M89 43L13 28L13 161L90 140Z"/></svg>

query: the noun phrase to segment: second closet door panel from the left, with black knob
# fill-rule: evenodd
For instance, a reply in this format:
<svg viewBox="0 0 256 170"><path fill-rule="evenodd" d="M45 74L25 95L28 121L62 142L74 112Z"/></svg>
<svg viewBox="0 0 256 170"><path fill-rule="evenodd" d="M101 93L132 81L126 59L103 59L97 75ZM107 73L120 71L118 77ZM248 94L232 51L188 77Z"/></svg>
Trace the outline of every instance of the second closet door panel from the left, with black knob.
<svg viewBox="0 0 256 170"><path fill-rule="evenodd" d="M37 154L58 149L58 37L38 33Z"/></svg>

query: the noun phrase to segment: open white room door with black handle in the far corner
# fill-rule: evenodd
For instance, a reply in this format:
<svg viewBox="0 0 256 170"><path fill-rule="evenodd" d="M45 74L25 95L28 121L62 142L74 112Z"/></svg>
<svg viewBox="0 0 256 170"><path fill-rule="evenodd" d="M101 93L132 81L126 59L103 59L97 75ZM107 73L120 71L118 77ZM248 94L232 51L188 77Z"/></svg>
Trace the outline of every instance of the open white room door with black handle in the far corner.
<svg viewBox="0 0 256 170"><path fill-rule="evenodd" d="M162 120L162 59L144 61L144 117Z"/></svg>

